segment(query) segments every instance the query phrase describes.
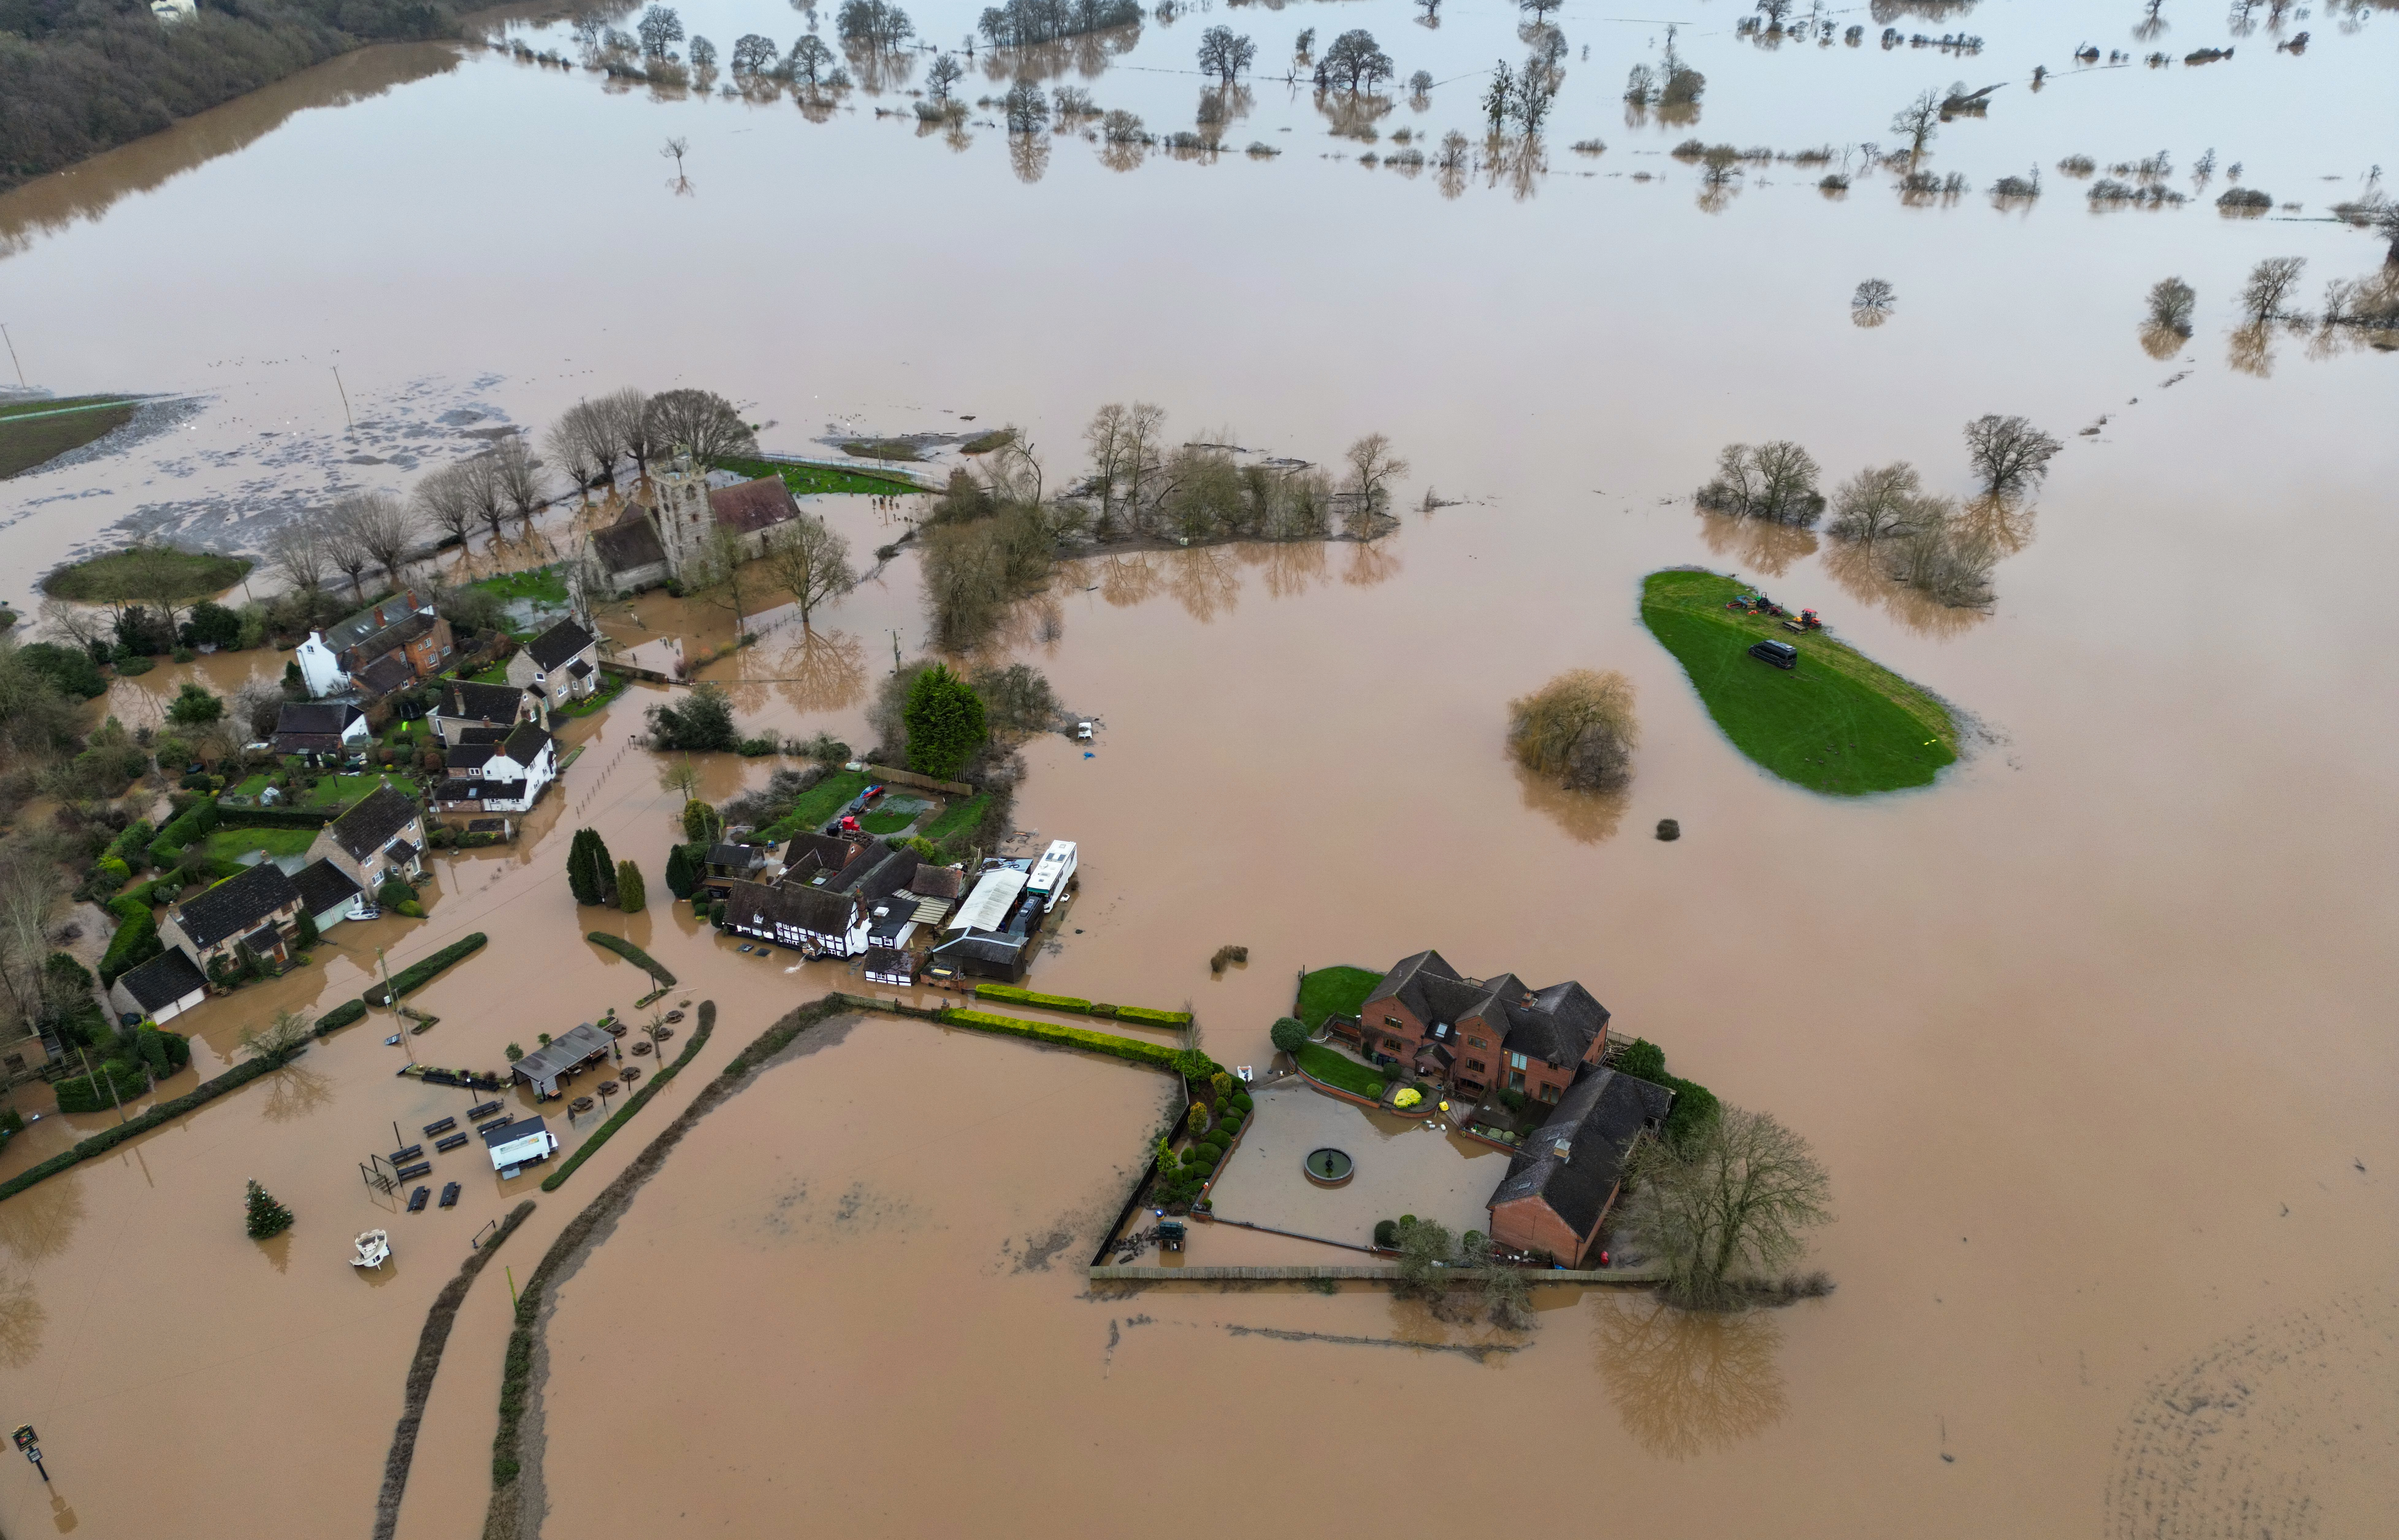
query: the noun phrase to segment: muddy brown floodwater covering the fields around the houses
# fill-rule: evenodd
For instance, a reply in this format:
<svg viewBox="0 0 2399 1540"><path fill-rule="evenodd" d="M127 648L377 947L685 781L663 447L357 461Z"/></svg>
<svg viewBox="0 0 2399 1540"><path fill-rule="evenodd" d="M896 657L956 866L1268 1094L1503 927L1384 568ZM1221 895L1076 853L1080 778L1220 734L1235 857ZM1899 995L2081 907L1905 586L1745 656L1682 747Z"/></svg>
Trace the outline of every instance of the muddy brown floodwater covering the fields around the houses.
<svg viewBox="0 0 2399 1540"><path fill-rule="evenodd" d="M1394 122L1480 137L1468 77L1523 43L1511 12L1444 10L1439 31L1387 0L1185 12L1068 79L1164 132L1197 103L1200 82L1171 72L1202 24L1255 34L1276 62L1303 26L1319 46L1370 26L1401 79L1444 82L1423 113L1401 96L1377 149ZM1559 1291L1519 1343L1379 1293L1094 1300L1077 1262L1154 1127L1156 1082L871 1022L703 1125L564 1293L552 1533L746 1530L801 1504L861 1533L960 1514L1195 1533L1223 1506L1161 1499L1195 1461L1305 1468L1319 1480L1279 1480L1245 1521L1360 1533L1387 1523L1389 1482L1341 1456L1399 1398L1439 1408L1468 1456L1406 1490L1449 1523L1588 1523L1598 1494L1612 1521L1715 1533L2389 1528L2394 360L2281 329L2260 357L2233 297L2262 257L2308 257L2310 309L2320 281L2380 261L2317 216L2399 163L2375 106L2399 17L2315 7L2284 24L2313 31L2293 55L2262 24L2229 38L2221 7L2169 7L2171 31L2147 41L2133 5L2104 22L2066 5L1883 10L1840 17L1871 22L1859 50L1768 50L1732 36L1730 5L1694 7L1677 46L1708 74L1696 125L1624 122L1617 89L1655 62L1660 26L1567 10L1550 170L1478 173L1454 199L1430 170L1360 168L1365 146L1264 79L1228 139L1288 142L1281 158L1154 151L1118 173L1063 137L1027 182L998 130L952 149L873 118L902 96L811 122L789 101L653 101L446 50L360 55L228 108L223 132L103 156L72 197L43 182L0 199L0 285L34 384L209 396L180 449L10 482L0 542L24 585L120 521L264 528L333 485L405 487L401 451L465 453L480 439L461 434L540 427L636 381L720 389L787 451L1022 422L1053 485L1104 401L1315 461L1389 434L1413 473L1403 528L1377 547L1070 564L1000 638L1104 722L1089 758L1027 746L1020 825L1084 847L1082 897L1034 981L1190 1000L1216 1058L1257 1065L1300 967L1435 945L1473 974L1574 976L1619 1031L1773 1111L1833 1173L1840 1219L1811 1267L1840 1288L1787 1312L1684 1322ZM916 14L940 38L972 22ZM729 50L806 19L713 5L686 24ZM1883 24L1979 31L1986 48L1886 53ZM557 29L533 41L564 46ZM2066 70L2082 41L2176 60L2233 41L2236 58L2027 91L2032 65ZM1974 187L2042 166L2030 209L1979 192L1910 206L1883 173L1828 199L1816 168L1787 163L1703 201L1696 170L1663 154L1689 134L1888 149L1890 113L1953 79L2010 84L1986 120L1943 125L1926 166ZM691 142L689 197L662 185L669 134ZM1567 149L1586 134L1607 151ZM2092 213L2049 170L2159 149L2188 206ZM2207 149L2219 170L2200 192ZM2301 209L2221 218L2233 161ZM2200 290L2197 329L2152 357L2142 293L2169 273ZM1876 329L1850 321L1864 278L1898 290ZM336 362L398 451L348 444ZM1756 540L1689 509L1725 441L1773 437L1806 444L1828 480L1910 458L1965 494L1958 427L1982 413L2068 439L1986 616L1898 600L1830 542ZM1456 501L1413 511L1427 489ZM835 516L861 554L878 542L871 511ZM1866 801L1756 772L1639 628L1639 576L1677 561L1826 612L1974 717L1967 760ZM609 624L705 640L662 597ZM921 645L907 557L813 633L768 628L710 674L734 681L746 722L861 744L895 628ZM1507 698L1567 667L1636 681L1643 744L1619 799L1528 784L1499 753ZM655 698L636 688L576 729L585 753L528 844L437 859L427 921L341 928L321 971L180 1022L204 1067L285 1000L355 993L377 940L396 964L475 928L494 940L413 998L441 1017L408 1039L432 1063L497 1065L509 1041L626 1007L641 981L581 940L595 924L667 962L672 998L722 1005L693 1075L840 979L739 955L665 907L569 904L561 825L600 828L650 873L674 837L674 799L629 744ZM710 792L765 770L708 765ZM1667 816L1675 844L1648 837ZM1223 943L1250 964L1211 979ZM204 1509L259 1535L369 1521L422 1310L468 1233L513 1202L468 1178L470 1151L444 1156L437 1180L465 1180L468 1199L389 1221L396 1276L350 1274L350 1233L386 1221L355 1163L393 1120L446 1106L391 1075L398 1053L350 1029L283 1087L0 1204L0 1401L38 1425L67 1504L53 1514L22 1470L0 1482L0 1528L72 1514L113 1535ZM669 1087L643 1120L686 1094ZM65 1137L43 1118L0 1173ZM629 1132L542 1197L501 1262L521 1279L638 1147ZM283 1247L240 1235L252 1175L300 1211ZM856 1243L794 1223L765 1245L794 1180L835 1204L868 1183L902 1219ZM1075 1245L1015 1271L1044 1226ZM1305 1255L1209 1231L1192 1250ZM434 1386L403 1535L477 1523L506 1310L492 1269ZM1492 1343L1521 1350L1442 1350ZM276 1451L271 1499L259 1451ZM1319 1458L1293 1466L1300 1451Z"/></svg>

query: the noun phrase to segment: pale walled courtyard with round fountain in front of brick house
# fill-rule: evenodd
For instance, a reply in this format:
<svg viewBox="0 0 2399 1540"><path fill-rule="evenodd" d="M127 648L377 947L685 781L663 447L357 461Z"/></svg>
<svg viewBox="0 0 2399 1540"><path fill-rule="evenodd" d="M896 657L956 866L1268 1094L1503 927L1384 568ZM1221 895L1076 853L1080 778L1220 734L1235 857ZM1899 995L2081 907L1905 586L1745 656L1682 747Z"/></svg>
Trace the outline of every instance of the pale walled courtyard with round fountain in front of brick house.
<svg viewBox="0 0 2399 1540"><path fill-rule="evenodd" d="M1346 1149L1358 1175L1317 1187L1300 1171L1310 1149ZM1216 1178L1221 1219L1367 1245L1377 1219L1437 1219L1451 1235L1490 1228L1492 1187L1509 1156L1423 1123L1370 1113L1286 1079L1257 1091L1240 1149Z"/></svg>

